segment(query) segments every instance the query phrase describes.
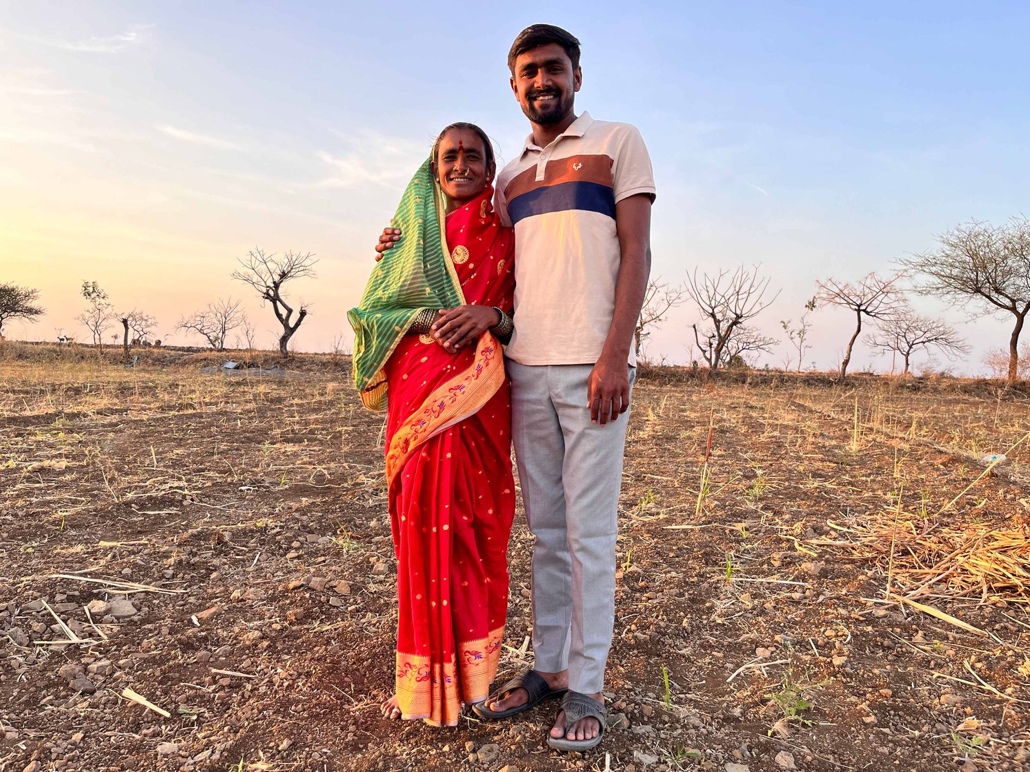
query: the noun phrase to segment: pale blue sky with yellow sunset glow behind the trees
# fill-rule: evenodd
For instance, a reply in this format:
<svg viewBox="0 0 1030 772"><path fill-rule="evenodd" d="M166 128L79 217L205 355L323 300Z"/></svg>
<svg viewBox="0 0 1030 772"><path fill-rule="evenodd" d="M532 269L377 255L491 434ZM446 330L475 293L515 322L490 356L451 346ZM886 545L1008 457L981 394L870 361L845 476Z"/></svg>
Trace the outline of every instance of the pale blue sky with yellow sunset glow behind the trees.
<svg viewBox="0 0 1030 772"><path fill-rule="evenodd" d="M437 132L471 120L502 162L520 151L506 57L539 22L582 42L577 112L647 141L652 276L758 265L780 290L755 320L769 336L820 278L889 273L958 223L1030 212L1024 2L583 7L0 0L0 282L46 308L6 336L87 339L74 317L91 280L168 343L200 345L180 317L242 299L271 348L271 309L231 279L260 247L318 258L317 278L289 287L311 310L296 348L348 348L377 234ZM917 370L978 373L1007 343L1010 323L981 307L914 304L972 345ZM697 320L677 308L646 352L698 358ZM809 323L805 366L836 366L849 313ZM867 367L891 359L860 343L852 370Z"/></svg>

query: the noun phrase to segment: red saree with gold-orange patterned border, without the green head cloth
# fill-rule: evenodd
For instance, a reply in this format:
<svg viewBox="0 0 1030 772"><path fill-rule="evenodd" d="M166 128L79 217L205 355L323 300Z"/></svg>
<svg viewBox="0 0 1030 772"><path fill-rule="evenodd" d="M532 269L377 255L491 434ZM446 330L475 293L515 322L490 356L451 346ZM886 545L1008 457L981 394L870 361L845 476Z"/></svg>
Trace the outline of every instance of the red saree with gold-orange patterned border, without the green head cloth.
<svg viewBox="0 0 1030 772"><path fill-rule="evenodd" d="M447 215L470 305L512 311L514 236L492 190ZM385 366L386 476L398 561L397 697L404 718L455 726L487 696L508 610L515 513L511 400L501 344L456 353L407 335Z"/></svg>

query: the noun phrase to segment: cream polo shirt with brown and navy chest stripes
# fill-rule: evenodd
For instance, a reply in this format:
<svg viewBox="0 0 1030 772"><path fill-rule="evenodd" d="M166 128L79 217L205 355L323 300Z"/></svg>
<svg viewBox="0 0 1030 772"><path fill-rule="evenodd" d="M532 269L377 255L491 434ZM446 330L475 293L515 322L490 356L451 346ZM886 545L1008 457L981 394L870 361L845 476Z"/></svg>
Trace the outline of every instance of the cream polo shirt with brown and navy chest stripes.
<svg viewBox="0 0 1030 772"><path fill-rule="evenodd" d="M634 127L584 112L547 147L529 135L497 175L495 209L515 226L515 332L507 356L522 364L597 361L621 259L615 205L638 194L654 199L655 188Z"/></svg>

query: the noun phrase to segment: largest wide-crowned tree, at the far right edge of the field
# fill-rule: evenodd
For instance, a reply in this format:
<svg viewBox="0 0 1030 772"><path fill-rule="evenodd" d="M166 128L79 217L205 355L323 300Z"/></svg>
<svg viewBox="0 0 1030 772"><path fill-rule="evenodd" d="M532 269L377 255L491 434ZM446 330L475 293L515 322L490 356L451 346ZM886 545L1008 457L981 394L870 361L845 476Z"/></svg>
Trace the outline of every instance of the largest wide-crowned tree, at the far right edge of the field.
<svg viewBox="0 0 1030 772"><path fill-rule="evenodd" d="M1012 316L1008 336L1008 382L1019 379L1020 334L1030 314L1030 220L1003 225L968 222L938 237L940 246L901 260L923 277L925 294L961 304L975 302L988 313Z"/></svg>

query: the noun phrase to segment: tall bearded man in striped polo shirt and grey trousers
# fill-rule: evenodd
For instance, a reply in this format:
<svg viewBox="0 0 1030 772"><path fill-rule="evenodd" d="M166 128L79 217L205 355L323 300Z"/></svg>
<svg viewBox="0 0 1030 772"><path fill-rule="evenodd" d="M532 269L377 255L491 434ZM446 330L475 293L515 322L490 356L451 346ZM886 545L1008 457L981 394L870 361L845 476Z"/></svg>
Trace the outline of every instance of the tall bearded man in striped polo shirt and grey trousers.
<svg viewBox="0 0 1030 772"><path fill-rule="evenodd" d="M508 55L533 132L497 178L515 227L515 332L506 359L533 555L535 668L476 712L503 718L561 696L548 742L586 749L605 729L615 621L615 541L633 328L650 272L654 179L640 133L577 116L579 41L526 28ZM397 233L384 232L377 251ZM461 345L446 314L434 335Z"/></svg>

